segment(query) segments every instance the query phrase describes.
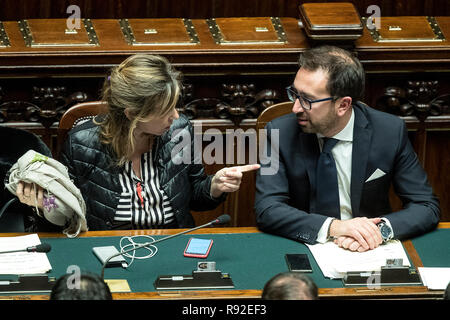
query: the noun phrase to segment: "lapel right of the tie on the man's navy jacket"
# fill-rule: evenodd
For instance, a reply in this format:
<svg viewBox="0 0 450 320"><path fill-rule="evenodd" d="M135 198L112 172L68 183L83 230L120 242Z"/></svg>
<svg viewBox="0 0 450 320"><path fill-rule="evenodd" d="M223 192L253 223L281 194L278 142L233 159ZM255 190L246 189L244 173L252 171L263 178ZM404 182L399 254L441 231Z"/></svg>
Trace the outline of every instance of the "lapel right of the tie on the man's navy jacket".
<svg viewBox="0 0 450 320"><path fill-rule="evenodd" d="M355 124L353 128L352 150L352 177L351 177L351 203L353 217L359 216L361 193L365 181L367 161L369 158L372 129L364 113L357 106L355 111Z"/></svg>

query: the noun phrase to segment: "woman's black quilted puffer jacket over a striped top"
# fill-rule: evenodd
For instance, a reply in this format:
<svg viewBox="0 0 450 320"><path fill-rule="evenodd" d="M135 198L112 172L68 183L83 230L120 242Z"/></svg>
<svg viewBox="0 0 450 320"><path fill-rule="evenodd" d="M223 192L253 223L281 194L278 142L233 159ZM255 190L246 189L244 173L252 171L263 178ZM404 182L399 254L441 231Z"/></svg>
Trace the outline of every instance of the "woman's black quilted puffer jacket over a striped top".
<svg viewBox="0 0 450 320"><path fill-rule="evenodd" d="M86 202L89 230L111 229L122 192L119 174L123 168L115 165L111 148L99 141L100 128L91 120L69 132L61 153L61 162L68 167L74 183ZM172 135L175 137L172 139ZM172 150L182 141L191 139L190 164L175 164ZM181 153L177 154L178 156ZM190 210L212 210L224 199L211 198L211 176L202 164L195 164L192 125L183 115L172 123L168 132L156 139L153 160L159 174L160 186L171 201L179 228L194 226Z"/></svg>

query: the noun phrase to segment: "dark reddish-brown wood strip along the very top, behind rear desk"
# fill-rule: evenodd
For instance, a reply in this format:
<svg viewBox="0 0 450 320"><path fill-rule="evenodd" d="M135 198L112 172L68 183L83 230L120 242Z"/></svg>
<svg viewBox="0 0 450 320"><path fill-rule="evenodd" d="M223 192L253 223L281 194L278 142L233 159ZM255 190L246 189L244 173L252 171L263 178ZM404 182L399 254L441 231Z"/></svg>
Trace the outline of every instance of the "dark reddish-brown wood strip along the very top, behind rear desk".
<svg viewBox="0 0 450 320"><path fill-rule="evenodd" d="M342 0L2 0L0 20L23 18L67 18L69 5L78 5L82 17L113 18L211 18L211 17L298 17L302 2L342 2ZM446 16L446 0L351 0L361 16L377 5L384 16Z"/></svg>

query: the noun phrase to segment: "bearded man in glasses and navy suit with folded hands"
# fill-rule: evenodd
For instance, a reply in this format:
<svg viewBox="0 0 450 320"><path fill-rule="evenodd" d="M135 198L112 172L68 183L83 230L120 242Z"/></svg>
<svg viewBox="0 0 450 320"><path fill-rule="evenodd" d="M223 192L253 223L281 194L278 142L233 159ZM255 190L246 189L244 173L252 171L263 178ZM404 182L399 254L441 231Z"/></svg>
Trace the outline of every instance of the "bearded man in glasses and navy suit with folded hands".
<svg viewBox="0 0 450 320"><path fill-rule="evenodd" d="M435 228L439 202L404 121L357 101L364 92L361 63L322 46L305 51L299 65L287 88L293 113L266 126L278 170L264 174L274 166L261 158L258 227L308 244L333 239L360 252ZM397 212L389 204L391 184L403 203Z"/></svg>

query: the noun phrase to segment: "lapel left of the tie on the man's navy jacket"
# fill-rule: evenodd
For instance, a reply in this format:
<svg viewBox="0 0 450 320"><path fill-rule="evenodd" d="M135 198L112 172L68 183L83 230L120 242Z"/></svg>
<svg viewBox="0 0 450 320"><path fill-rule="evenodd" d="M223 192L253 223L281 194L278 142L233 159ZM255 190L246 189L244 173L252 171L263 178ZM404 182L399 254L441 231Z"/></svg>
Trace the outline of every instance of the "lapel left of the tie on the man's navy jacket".
<svg viewBox="0 0 450 320"><path fill-rule="evenodd" d="M309 210L315 211L316 207L316 166L320 154L317 136L311 133L299 133L300 155L304 160L310 183Z"/></svg>

